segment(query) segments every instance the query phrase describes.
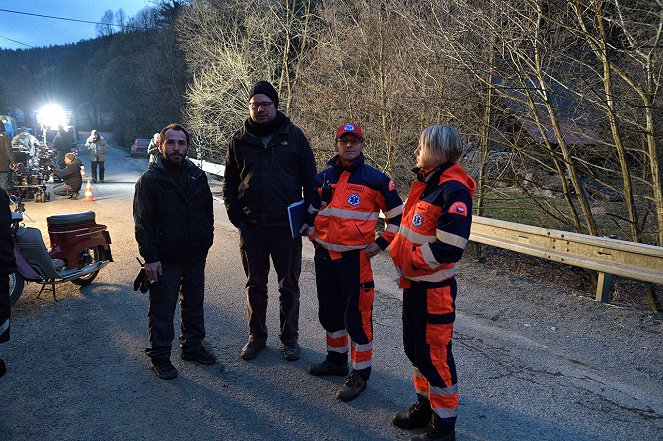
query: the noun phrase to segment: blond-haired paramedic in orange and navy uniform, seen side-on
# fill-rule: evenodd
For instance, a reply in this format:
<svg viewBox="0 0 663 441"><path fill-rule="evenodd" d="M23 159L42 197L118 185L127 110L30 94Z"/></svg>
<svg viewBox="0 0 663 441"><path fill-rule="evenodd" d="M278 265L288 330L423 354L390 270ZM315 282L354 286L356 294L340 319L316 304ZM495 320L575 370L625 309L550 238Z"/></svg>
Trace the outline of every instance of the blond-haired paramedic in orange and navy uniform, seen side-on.
<svg viewBox="0 0 663 441"><path fill-rule="evenodd" d="M456 317L456 262L470 236L474 180L456 163L458 131L431 126L415 150L417 174L390 254L403 288L403 345L414 366L417 402L392 418L401 429L424 428L414 440L455 440L458 415L451 337Z"/></svg>

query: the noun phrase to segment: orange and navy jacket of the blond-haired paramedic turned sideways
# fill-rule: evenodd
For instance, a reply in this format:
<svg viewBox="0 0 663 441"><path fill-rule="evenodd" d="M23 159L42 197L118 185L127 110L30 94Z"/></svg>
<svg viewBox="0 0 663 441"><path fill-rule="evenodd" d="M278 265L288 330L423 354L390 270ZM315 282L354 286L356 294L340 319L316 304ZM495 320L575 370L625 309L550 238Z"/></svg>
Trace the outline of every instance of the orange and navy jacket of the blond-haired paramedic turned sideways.
<svg viewBox="0 0 663 441"><path fill-rule="evenodd" d="M389 251L401 273L401 288L454 276L470 236L476 190L474 180L456 163L414 171L417 178Z"/></svg>

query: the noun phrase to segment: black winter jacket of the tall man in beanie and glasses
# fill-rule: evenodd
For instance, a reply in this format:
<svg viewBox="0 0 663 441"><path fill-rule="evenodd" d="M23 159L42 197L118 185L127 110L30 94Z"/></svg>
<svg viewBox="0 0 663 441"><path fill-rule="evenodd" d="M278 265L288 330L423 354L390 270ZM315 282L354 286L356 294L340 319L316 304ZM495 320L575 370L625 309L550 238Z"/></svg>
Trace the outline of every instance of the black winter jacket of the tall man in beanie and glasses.
<svg viewBox="0 0 663 441"><path fill-rule="evenodd" d="M228 147L223 195L230 222L287 227L288 205L313 197L315 159L304 133L287 122L265 147L247 123Z"/></svg>

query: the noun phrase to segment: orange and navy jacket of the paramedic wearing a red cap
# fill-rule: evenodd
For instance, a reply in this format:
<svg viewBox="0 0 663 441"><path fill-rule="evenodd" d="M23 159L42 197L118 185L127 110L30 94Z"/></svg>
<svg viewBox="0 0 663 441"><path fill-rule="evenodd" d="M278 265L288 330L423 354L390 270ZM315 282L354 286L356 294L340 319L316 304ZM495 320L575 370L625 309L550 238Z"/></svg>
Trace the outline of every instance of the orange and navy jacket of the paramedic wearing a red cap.
<svg viewBox="0 0 663 441"><path fill-rule="evenodd" d="M383 250L394 239L401 222L403 202L394 182L380 170L364 163L361 154L352 166L344 167L337 156L328 163L331 167L315 177L315 194L309 213L314 216L314 228L309 239L327 249L332 259L345 251L365 248L376 242ZM332 198L322 206L322 187L332 187ZM375 238L375 225L385 214L385 230Z"/></svg>

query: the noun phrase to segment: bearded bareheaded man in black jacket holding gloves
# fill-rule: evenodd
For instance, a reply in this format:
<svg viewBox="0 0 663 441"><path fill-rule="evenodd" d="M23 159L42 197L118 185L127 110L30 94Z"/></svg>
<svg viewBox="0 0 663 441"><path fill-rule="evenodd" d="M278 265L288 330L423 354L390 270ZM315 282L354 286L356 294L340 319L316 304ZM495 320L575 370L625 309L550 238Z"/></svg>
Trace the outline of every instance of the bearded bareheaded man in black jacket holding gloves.
<svg viewBox="0 0 663 441"><path fill-rule="evenodd" d="M213 199L205 173L186 159L188 150L189 133L179 124L165 127L161 154L138 179L134 193L136 241L150 280L150 347L145 352L151 369L164 380L177 377L170 352L178 296L180 357L216 363L203 345L205 261L214 239Z"/></svg>

